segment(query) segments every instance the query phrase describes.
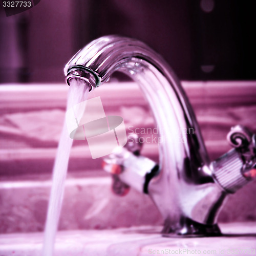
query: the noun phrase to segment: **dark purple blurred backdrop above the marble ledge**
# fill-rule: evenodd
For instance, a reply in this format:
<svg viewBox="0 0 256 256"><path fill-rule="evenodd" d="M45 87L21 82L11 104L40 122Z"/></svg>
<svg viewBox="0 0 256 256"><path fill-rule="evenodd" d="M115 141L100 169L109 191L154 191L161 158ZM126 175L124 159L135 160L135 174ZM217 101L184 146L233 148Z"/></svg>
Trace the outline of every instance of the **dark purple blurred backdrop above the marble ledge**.
<svg viewBox="0 0 256 256"><path fill-rule="evenodd" d="M64 82L66 62L92 39L130 36L182 80L256 79L255 1L41 0L0 8L0 82Z"/></svg>

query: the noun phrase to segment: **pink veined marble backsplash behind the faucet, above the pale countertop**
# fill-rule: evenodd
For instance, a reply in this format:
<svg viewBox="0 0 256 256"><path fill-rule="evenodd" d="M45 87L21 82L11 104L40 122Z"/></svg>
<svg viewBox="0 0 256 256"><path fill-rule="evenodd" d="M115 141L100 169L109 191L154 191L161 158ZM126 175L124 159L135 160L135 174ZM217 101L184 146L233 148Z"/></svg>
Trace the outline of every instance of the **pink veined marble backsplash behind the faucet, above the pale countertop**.
<svg viewBox="0 0 256 256"><path fill-rule="evenodd" d="M182 86L211 159L230 149L226 135L232 125L243 124L256 132L256 81L182 81ZM68 89L64 83L0 86L0 233L44 229ZM100 96L107 115L123 117L127 132L138 127L141 136L154 136L144 134L143 129L152 131L154 119L135 83L110 82L89 95ZM158 161L157 144L145 143L142 154ZM256 180L228 198L219 221L256 221L255 194ZM125 197L113 195L101 159L91 158L84 141L74 142L61 230L161 224L146 195L133 189Z"/></svg>

